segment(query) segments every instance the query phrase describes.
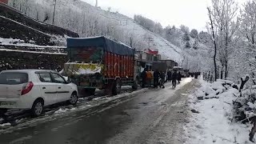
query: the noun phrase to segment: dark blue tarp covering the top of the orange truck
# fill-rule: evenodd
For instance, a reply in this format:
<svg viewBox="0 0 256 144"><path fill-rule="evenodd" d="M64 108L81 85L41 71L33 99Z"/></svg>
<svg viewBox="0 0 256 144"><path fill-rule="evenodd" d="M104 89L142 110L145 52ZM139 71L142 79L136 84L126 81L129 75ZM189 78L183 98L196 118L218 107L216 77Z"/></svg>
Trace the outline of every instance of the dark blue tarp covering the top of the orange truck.
<svg viewBox="0 0 256 144"><path fill-rule="evenodd" d="M90 37L90 38L67 38L67 48L86 48L86 47L97 47L102 48L108 52L119 54L119 55L134 55L135 50L130 46L122 42L116 42L110 38L104 36Z"/></svg>

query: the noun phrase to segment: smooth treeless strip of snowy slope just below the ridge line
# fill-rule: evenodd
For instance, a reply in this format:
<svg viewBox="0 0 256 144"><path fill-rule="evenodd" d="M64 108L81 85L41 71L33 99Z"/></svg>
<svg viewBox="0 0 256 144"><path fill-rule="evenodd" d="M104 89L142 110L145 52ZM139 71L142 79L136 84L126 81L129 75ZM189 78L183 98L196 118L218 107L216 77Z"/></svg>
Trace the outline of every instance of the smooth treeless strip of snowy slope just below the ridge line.
<svg viewBox="0 0 256 144"><path fill-rule="evenodd" d="M78 6L82 6L82 3L85 3L81 1L77 2ZM148 46L145 46L145 49L158 49L160 54L162 54L162 58L170 58L174 61L179 61L181 59L180 53L182 50L179 47L174 46L158 34L154 34L150 30L146 30L143 26L138 25L137 22L134 22L134 19L122 14L101 10L94 6L90 6L89 4L85 4L84 6L86 6L86 8L90 7L90 10L96 10L96 12L103 18L118 22L118 27L120 27L125 33L132 31L137 35L137 38L140 38L141 41L148 44Z"/></svg>

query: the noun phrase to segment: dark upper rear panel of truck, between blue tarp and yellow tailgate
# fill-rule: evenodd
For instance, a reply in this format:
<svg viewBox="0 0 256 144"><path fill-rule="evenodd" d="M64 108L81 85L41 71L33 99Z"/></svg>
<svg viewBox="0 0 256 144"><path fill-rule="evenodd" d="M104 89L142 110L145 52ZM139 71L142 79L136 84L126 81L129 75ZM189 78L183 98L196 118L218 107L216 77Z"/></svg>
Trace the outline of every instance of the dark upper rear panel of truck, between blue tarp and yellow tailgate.
<svg viewBox="0 0 256 144"><path fill-rule="evenodd" d="M102 47L75 47L69 49L71 62L101 62Z"/></svg>

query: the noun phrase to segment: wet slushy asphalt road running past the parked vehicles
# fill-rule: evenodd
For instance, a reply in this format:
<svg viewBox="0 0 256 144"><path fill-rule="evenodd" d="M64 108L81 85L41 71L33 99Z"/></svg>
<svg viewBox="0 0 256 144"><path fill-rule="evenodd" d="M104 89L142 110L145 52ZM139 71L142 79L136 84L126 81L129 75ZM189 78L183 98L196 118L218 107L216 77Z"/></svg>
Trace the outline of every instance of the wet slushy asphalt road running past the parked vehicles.
<svg viewBox="0 0 256 144"><path fill-rule="evenodd" d="M142 90L86 110L21 125L0 134L0 143L183 143L187 95L198 86L186 78L174 90Z"/></svg>

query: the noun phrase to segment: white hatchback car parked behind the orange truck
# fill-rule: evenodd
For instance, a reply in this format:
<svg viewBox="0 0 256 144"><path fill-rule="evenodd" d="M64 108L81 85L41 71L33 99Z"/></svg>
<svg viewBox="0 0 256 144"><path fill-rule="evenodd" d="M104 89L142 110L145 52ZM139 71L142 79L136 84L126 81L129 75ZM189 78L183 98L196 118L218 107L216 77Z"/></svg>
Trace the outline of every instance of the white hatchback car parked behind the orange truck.
<svg viewBox="0 0 256 144"><path fill-rule="evenodd" d="M0 110L30 109L34 116L44 106L78 102L78 87L53 70L3 70L0 73Z"/></svg>

